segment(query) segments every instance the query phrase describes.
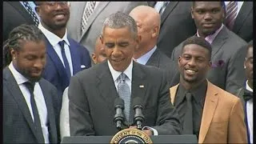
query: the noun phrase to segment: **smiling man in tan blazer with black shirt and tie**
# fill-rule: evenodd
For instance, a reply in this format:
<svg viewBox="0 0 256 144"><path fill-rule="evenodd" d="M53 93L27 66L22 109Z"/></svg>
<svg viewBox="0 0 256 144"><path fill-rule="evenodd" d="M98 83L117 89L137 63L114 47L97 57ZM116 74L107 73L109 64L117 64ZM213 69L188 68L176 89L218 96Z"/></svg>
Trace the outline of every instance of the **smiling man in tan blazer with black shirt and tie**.
<svg viewBox="0 0 256 144"><path fill-rule="evenodd" d="M246 143L242 103L206 79L210 58L209 42L200 37L186 39L178 58L180 82L170 88L182 134L196 134L198 143Z"/></svg>

